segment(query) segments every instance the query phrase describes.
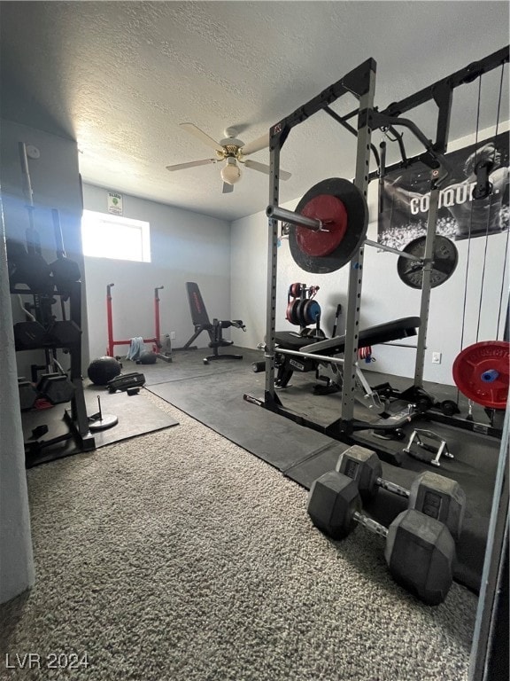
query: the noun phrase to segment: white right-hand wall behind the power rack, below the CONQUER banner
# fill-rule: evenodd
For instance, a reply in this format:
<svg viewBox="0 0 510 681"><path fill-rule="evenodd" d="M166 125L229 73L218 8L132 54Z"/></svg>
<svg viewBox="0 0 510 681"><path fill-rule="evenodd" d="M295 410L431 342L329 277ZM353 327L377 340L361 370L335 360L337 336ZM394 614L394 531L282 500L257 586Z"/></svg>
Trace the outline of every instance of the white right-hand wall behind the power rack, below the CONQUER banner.
<svg viewBox="0 0 510 681"><path fill-rule="evenodd" d="M508 129L499 126L498 132ZM493 130L479 133L478 139L491 137ZM465 137L449 145L449 151L473 144L475 137ZM292 168L287 168L292 170ZM349 178L348 178L349 179ZM368 191L370 222L367 239L377 239L377 186L373 182ZM283 207L293 209L298 200ZM250 309L250 324L246 333L247 347L255 348L266 334L267 289L267 217L264 213L250 215L232 225L232 304L246 301ZM508 300L507 234L478 237L455 242L459 252L457 269L448 281L432 290L430 296L427 351L424 380L453 385L452 364L462 348L481 340L502 337ZM487 250L485 251L485 248ZM392 319L420 315L421 292L405 286L398 278L397 256L365 247L360 326L382 324ZM504 271L506 264L506 269ZM301 270L290 255L289 241L282 239L278 248L276 328L296 330L285 319L287 292L290 284L305 283L320 286L316 300L321 304L321 326L331 333L338 302L345 311L348 266L330 274L311 274ZM468 285L466 285L468 282ZM483 286L482 286L483 285ZM503 301L500 300L503 291ZM465 301L466 294L466 301ZM482 297L481 297L482 294ZM500 323L498 313L501 305ZM478 327L478 319L480 325ZM337 333L344 330L344 319L339 320ZM413 339L403 340L413 344ZM373 348L376 362L363 364L368 370L413 377L415 350ZM442 364L431 364L432 351L442 353Z"/></svg>

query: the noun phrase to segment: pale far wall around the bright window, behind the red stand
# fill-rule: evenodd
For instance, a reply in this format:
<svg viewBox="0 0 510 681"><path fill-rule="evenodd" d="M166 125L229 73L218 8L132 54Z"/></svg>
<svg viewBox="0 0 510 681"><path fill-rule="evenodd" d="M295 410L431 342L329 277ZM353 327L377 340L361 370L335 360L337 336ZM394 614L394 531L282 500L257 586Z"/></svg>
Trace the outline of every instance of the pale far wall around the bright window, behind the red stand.
<svg viewBox="0 0 510 681"><path fill-rule="evenodd" d="M83 185L83 205L88 210L107 213L108 191ZM207 215L191 213L149 200L123 195L123 215L151 224L151 262L128 262L105 258L85 258L87 277L90 359L102 356L107 347L106 286L112 288L113 336L129 340L154 336L154 288L159 291L161 333L175 332L174 348L194 333L185 282L196 281L205 308L213 317L229 319L230 301L230 224ZM236 309L237 308L237 309ZM232 316L242 318L241 306L232 306ZM242 342L243 332L231 330L232 340ZM225 333L228 338L228 332ZM207 333L194 345L204 348ZM146 346L150 349L150 345ZM128 346L114 348L126 355Z"/></svg>

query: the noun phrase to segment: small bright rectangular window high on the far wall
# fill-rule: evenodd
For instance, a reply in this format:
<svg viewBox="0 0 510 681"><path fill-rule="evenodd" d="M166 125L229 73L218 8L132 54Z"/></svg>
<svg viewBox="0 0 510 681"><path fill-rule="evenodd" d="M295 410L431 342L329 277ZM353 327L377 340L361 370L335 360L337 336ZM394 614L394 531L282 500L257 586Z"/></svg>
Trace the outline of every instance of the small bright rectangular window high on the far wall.
<svg viewBox="0 0 510 681"><path fill-rule="evenodd" d="M151 262L150 224L141 220L84 210L81 243L94 258Z"/></svg>

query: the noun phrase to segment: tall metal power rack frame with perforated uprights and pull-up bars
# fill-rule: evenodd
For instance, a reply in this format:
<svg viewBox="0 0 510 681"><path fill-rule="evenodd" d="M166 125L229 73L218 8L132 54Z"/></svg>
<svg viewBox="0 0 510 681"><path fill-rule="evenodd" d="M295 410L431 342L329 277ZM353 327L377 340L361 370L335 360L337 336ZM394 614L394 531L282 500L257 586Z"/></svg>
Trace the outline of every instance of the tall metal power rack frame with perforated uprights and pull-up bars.
<svg viewBox="0 0 510 681"><path fill-rule="evenodd" d="M439 205L439 193L448 176L449 168L444 153L448 143L450 117L452 111L453 90L460 85L474 81L477 77L485 74L492 69L502 66L508 61L508 48L503 48L494 52L489 57L477 61L468 67L435 82L427 88L420 90L415 95L396 102L379 112L374 107L375 93L375 71L376 64L374 59L367 59L366 62L355 68L344 78L323 90L320 95L300 106L293 114L287 116L282 121L276 123L270 129L270 191L267 215L269 218L269 240L267 254L267 338L266 338L266 384L265 399L261 402L250 395L245 395L247 401L258 403L265 408L281 413L287 418L298 420L299 423L309 427L315 427L326 434L341 439L340 436L350 435L355 429L366 429L367 423L357 422L353 418L354 411L354 381L355 367L358 361L358 330L359 330L359 309L361 286L363 277L364 247L375 246L382 250L395 252L395 249L383 247L382 244L370 242L365 239L367 231L367 217L359 214L358 224L348 224L347 230L357 230L354 239L351 239L347 250L336 249L334 256L341 251L336 267L338 269L347 262L349 263L347 310L345 320L345 351L344 351L344 382L342 388L342 412L340 419L327 428L317 427L311 421L306 421L301 415L295 415L286 410L274 390L274 355L275 355L275 308L276 308L276 274L277 274L277 245L278 245L278 221L298 225L299 228L307 228L311 231L320 232L322 230L321 220L313 217L304 217L298 213L287 211L278 206L279 200L279 181L280 181L280 153L291 129L299 123L305 121L313 114L324 111L336 120L344 129L347 129L357 137L356 168L354 182L352 184L354 192L366 202L367 188L371 180L379 178L383 180L386 172L397 168L408 168L413 163L421 161L430 170L430 199L429 199L429 218L427 223L427 236L425 239L424 254L422 257L422 282L421 282L421 326L418 333L416 362L414 369L414 387L420 388L423 383L423 368L425 343L427 338L427 322L429 317L429 300L431 290L431 274L433 270L433 254L435 254L437 210ZM358 100L358 106L349 114L339 116L330 109L329 105L336 102L344 95L354 96ZM429 140L413 121L402 118L402 114L413 110L417 106L432 100L437 105L436 139ZM354 127L352 120L357 119ZM406 149L398 135L396 128L402 126L408 129L423 147L422 153L411 158L406 157ZM401 153L401 160L384 168L384 153L379 156L375 146L371 142L373 129L383 129L390 131L398 138L398 146ZM377 171L369 171L370 154L373 154L378 166ZM339 198L342 198L339 196ZM398 252L398 251L397 251ZM402 255L402 252L398 252ZM300 264L298 262L298 264ZM310 270L313 271L313 270ZM283 351L284 352L284 351ZM305 355L305 353L304 353Z"/></svg>

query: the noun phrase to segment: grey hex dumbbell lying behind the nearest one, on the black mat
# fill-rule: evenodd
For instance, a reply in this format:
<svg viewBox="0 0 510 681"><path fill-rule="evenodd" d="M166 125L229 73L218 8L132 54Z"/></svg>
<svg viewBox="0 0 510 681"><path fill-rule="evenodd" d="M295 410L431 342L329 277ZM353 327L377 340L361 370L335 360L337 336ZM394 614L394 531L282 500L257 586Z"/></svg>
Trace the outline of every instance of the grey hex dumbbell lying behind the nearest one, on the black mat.
<svg viewBox="0 0 510 681"><path fill-rule="evenodd" d="M395 482L384 480L383 465L375 451L357 444L340 455L336 471L356 481L364 501L374 498L380 488L387 489L399 497L406 497L409 508L444 522L452 536L459 539L466 494L458 482L426 471L418 475L411 489L405 489Z"/></svg>

